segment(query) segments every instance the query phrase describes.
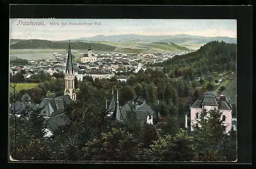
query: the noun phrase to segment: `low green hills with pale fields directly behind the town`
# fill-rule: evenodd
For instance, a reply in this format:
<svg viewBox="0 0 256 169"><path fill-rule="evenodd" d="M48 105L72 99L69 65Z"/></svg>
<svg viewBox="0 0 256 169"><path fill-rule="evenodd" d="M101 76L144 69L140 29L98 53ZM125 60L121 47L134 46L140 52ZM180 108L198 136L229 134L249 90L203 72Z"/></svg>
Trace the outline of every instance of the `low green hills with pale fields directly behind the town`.
<svg viewBox="0 0 256 169"><path fill-rule="evenodd" d="M72 41L72 49L84 50L91 46L94 51L105 51L105 52L123 52L123 53L140 53L140 52L178 52L178 51L189 51L185 47L181 47L174 43L104 43L94 42L89 43L82 40ZM29 39L16 41L10 45L10 49L68 49L69 41L50 41L50 40L39 40Z"/></svg>

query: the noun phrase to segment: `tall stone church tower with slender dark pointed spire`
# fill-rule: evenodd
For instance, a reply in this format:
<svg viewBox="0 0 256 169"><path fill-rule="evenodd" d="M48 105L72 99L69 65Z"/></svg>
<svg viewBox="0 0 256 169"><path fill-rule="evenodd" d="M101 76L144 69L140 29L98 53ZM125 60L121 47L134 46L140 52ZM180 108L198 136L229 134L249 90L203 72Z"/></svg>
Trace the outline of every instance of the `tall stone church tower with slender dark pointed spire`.
<svg viewBox="0 0 256 169"><path fill-rule="evenodd" d="M67 67L66 67L66 72L65 72L64 94L69 95L72 100L76 100L75 73L74 73L73 62L72 62L72 57L71 57L70 40L69 40L69 52L68 52Z"/></svg>

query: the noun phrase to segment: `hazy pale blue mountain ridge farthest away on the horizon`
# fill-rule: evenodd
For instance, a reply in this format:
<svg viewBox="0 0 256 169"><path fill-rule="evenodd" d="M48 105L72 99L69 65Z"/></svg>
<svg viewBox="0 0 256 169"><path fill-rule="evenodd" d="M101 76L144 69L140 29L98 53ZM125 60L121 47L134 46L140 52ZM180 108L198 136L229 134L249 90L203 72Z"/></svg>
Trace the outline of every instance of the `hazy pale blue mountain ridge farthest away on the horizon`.
<svg viewBox="0 0 256 169"><path fill-rule="evenodd" d="M113 41L113 42L139 42L139 43L153 43L153 42L168 42L175 44L205 44L212 40L224 41L225 43L237 43L237 38L231 37L205 37L193 36L186 34L179 35L161 35L161 36L148 36L148 35L97 35L93 37L81 37L73 40L88 40L88 41Z"/></svg>

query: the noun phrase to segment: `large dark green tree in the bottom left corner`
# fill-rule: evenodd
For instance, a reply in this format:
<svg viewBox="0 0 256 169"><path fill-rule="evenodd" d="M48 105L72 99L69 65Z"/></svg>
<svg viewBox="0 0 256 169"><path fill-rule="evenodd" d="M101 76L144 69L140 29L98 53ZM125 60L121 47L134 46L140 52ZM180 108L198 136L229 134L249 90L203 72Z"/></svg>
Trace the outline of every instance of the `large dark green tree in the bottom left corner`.
<svg viewBox="0 0 256 169"><path fill-rule="evenodd" d="M27 104L17 117L16 155L18 160L51 160L52 154L45 138L45 119L40 115L41 108ZM10 142L13 148L14 121L10 120ZM11 156L14 155L11 153Z"/></svg>

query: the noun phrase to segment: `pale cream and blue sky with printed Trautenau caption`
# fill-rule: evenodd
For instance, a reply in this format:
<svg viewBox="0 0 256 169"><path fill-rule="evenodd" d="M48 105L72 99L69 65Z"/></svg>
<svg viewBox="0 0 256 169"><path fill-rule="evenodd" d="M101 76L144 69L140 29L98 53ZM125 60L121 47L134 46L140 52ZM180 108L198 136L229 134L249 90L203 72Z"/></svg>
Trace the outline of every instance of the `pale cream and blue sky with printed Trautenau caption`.
<svg viewBox="0 0 256 169"><path fill-rule="evenodd" d="M22 23L23 22L23 23ZM28 22L28 25L26 25ZM44 25L31 25L42 22ZM50 23L59 25L50 25ZM61 23L67 23L62 25ZM70 25L69 23L92 23ZM96 25L95 23L100 23ZM25 24L25 25L23 25ZM30 24L30 25L29 25ZM236 19L10 19L10 39L67 40L96 35L226 36L237 38Z"/></svg>

